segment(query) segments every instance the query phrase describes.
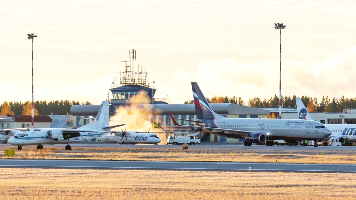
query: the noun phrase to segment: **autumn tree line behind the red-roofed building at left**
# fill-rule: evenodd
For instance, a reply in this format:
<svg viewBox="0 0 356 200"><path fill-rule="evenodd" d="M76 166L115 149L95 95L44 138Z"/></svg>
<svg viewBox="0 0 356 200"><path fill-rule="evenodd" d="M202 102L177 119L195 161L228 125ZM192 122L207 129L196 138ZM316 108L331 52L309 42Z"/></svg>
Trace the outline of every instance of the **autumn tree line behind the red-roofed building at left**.
<svg viewBox="0 0 356 200"><path fill-rule="evenodd" d="M80 105L78 101L69 101L69 100L52 100L52 101L35 101L34 106L34 115L67 115L70 113L70 107L72 105ZM82 102L82 105L91 105L91 102L86 101ZM3 102L0 106L0 116L6 114L11 115L31 115L32 112L32 102L26 101L24 103L20 102Z"/></svg>

